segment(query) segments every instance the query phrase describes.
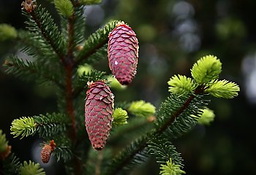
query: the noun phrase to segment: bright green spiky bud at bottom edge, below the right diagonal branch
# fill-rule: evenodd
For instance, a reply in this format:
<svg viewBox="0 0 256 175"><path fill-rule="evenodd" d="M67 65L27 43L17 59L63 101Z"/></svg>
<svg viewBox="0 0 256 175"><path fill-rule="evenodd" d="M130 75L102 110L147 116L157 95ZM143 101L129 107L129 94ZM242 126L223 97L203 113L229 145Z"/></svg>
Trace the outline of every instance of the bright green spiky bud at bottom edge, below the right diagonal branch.
<svg viewBox="0 0 256 175"><path fill-rule="evenodd" d="M162 165L160 167L160 175L181 175L186 174L185 171L181 170L181 166L176 165L172 162L172 159L166 162L166 165Z"/></svg>

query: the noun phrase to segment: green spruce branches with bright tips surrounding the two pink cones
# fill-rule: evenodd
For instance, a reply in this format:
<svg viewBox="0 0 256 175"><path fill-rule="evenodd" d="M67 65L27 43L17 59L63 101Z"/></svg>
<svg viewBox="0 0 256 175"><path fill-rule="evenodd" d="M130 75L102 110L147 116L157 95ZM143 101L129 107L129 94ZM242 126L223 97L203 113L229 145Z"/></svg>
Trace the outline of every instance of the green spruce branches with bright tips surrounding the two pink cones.
<svg viewBox="0 0 256 175"><path fill-rule="evenodd" d="M27 18L28 31L17 31L16 35L12 28L12 34L7 34L7 28L11 27L0 26L0 34L6 36L6 39L17 39L21 51L34 58L27 61L15 55L9 56L4 62L7 73L37 79L39 83L53 82L59 107L59 112L52 114L13 120L10 128L12 135L23 139L38 133L45 142L54 139L56 148L52 155L57 161L64 160L67 174L84 174L92 172L93 168L97 174L124 174L145 162L150 155L154 155L160 164L160 174L184 174L181 170L184 166L181 155L176 152L173 141L197 123L211 122L214 114L206 109L210 102L209 95L233 98L238 96L240 90L236 83L218 80L222 71L219 59L214 55L200 58L191 69L192 78L173 75L167 82L170 85L170 96L159 109L143 100L129 103L115 101L116 109L111 116L113 121L112 118L110 121L115 127L110 132L103 153L94 154L84 126L83 100L89 88L87 85L91 82L102 81L111 88L121 89L110 78L111 75L91 66L107 58L108 35L120 21L110 21L85 39L84 5L98 4L101 0L52 2L61 15L60 27L44 7L30 0L23 1L23 15ZM80 70L85 65L90 65L90 69ZM104 92L98 93L91 98L102 100ZM96 109L101 110L100 107ZM7 141L5 136L0 135L2 149ZM122 148L118 153L115 144ZM99 162L91 163L95 158ZM105 162L107 158L108 163ZM84 163L89 163L89 167ZM45 174L38 163L30 160L20 166L18 158L13 154L7 156L1 167L3 172L12 172L10 174Z"/></svg>

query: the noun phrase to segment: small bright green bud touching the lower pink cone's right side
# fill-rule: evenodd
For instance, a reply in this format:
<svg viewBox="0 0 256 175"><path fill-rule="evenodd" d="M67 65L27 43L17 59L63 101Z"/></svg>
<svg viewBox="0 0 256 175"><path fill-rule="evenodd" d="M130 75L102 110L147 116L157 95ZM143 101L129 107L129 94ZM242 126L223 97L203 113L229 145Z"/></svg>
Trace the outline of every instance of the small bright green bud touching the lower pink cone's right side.
<svg viewBox="0 0 256 175"><path fill-rule="evenodd" d="M128 114L127 111L117 108L113 112L113 126L127 124Z"/></svg>

